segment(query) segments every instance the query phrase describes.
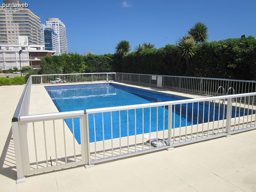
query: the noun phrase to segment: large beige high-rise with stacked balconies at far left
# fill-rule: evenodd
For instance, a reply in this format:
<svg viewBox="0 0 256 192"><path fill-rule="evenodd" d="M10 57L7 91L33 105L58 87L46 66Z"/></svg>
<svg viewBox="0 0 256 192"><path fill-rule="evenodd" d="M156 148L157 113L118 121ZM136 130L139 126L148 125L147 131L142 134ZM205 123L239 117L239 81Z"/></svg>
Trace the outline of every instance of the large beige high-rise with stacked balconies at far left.
<svg viewBox="0 0 256 192"><path fill-rule="evenodd" d="M26 4L26 3L25 3ZM41 44L40 17L20 1L4 0L0 6L0 44L17 44L18 35L27 36L29 44Z"/></svg>

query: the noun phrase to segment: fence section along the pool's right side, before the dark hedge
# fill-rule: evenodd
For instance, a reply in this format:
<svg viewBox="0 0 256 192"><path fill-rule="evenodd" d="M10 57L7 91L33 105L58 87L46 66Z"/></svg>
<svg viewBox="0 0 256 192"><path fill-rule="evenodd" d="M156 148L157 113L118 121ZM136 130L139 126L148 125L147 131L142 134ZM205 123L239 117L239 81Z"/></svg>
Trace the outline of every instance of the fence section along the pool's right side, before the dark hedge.
<svg viewBox="0 0 256 192"><path fill-rule="evenodd" d="M256 92L256 81L236 79L116 73L115 81L207 96Z"/></svg>

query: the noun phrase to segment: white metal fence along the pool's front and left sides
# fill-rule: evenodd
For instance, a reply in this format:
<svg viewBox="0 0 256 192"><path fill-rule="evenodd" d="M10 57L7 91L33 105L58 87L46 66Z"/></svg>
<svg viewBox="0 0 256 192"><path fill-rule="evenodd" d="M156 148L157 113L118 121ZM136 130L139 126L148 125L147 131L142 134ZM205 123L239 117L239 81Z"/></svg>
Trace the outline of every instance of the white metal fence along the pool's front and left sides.
<svg viewBox="0 0 256 192"><path fill-rule="evenodd" d="M111 74L114 80L114 73ZM89 79L109 77L107 73L86 75ZM86 75L72 78L82 79ZM36 78L38 76L29 77L12 119L17 183L24 182L26 175L90 166L256 128L256 93L28 115L31 85L37 82ZM49 79L40 83L47 83ZM81 144L75 137L80 138Z"/></svg>

